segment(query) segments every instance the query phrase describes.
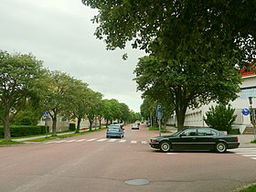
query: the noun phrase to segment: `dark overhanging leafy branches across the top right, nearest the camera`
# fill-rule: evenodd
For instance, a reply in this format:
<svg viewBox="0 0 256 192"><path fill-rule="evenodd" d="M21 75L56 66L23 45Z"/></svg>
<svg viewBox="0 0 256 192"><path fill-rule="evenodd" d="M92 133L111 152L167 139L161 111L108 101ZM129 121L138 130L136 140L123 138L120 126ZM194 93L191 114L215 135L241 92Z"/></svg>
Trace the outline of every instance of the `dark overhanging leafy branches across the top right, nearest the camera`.
<svg viewBox="0 0 256 192"><path fill-rule="evenodd" d="M245 59L255 56L256 2L253 0L148 1L82 0L97 8L92 21L107 48L157 52L165 59ZM187 57L189 52L189 57Z"/></svg>

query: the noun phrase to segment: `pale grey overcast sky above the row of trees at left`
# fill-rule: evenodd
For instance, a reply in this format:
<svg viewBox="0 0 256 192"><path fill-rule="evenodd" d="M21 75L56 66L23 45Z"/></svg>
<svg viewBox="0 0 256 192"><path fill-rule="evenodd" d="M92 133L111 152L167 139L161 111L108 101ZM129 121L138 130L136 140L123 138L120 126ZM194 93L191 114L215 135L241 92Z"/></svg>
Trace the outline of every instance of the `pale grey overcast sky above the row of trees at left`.
<svg viewBox="0 0 256 192"><path fill-rule="evenodd" d="M106 50L93 36L97 10L80 0L1 0L0 49L13 54L32 53L44 67L83 80L104 99L126 103L140 111L133 69L144 52L127 48ZM123 53L128 60L123 60Z"/></svg>

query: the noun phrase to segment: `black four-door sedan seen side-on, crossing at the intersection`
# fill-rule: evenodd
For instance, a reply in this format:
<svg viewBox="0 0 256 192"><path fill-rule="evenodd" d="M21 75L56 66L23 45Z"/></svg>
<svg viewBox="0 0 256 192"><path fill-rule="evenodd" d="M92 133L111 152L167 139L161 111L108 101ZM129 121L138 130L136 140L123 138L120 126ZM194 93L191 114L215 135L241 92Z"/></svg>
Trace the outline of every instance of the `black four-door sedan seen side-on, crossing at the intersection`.
<svg viewBox="0 0 256 192"><path fill-rule="evenodd" d="M172 135L157 136L150 140L151 147L162 152L171 150L210 150L225 153L238 148L237 136L227 135L211 128L187 128Z"/></svg>

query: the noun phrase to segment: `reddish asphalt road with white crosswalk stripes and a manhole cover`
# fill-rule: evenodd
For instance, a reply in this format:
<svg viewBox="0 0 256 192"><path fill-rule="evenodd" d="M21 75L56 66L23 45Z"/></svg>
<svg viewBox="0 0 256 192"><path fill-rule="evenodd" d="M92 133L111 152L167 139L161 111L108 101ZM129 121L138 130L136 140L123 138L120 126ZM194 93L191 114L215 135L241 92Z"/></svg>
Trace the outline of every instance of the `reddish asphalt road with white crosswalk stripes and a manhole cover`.
<svg viewBox="0 0 256 192"><path fill-rule="evenodd" d="M256 160L240 154L256 148L164 154L147 144L157 132L124 128L122 139L106 139L101 131L0 147L0 191L227 192L256 182Z"/></svg>

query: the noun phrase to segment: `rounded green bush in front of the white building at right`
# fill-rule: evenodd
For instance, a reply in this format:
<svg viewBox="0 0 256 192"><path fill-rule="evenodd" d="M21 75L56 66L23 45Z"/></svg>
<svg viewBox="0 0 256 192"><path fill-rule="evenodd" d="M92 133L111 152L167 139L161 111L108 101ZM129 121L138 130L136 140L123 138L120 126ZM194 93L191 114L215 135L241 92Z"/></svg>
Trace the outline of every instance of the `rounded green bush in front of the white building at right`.
<svg viewBox="0 0 256 192"><path fill-rule="evenodd" d="M211 106L206 117L204 117L205 123L209 127L217 129L219 131L227 131L228 133L232 129L232 124L235 122L237 115L234 115L235 110L220 103L216 107Z"/></svg>

